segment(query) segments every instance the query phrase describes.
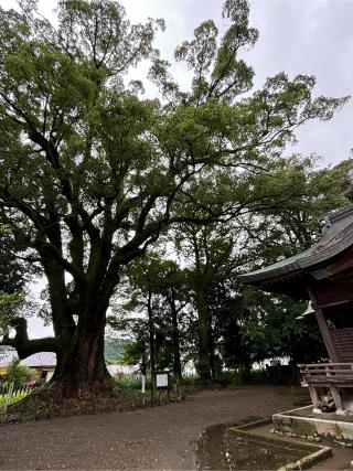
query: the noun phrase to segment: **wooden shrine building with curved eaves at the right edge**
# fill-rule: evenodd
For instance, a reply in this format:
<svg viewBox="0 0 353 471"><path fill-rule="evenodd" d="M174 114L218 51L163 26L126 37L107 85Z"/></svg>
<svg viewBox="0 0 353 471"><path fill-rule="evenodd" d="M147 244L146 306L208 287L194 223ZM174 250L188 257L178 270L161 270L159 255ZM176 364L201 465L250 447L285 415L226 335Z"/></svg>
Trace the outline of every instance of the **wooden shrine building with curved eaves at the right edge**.
<svg viewBox="0 0 353 471"><path fill-rule="evenodd" d="M310 302L330 358L300 365L313 410L321 411L318 390L325 388L336 414L353 414L353 205L329 214L324 223L311 248L238 280Z"/></svg>

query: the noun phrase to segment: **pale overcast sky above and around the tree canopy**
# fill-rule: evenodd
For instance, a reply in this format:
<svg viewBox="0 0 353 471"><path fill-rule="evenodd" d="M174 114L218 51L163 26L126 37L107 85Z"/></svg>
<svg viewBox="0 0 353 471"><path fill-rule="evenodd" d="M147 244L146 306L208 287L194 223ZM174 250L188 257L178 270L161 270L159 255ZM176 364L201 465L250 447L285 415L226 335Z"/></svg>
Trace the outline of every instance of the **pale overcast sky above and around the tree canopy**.
<svg viewBox="0 0 353 471"><path fill-rule="evenodd" d="M122 0L132 22L163 18L167 23L156 46L172 61L174 47L191 39L194 28L213 19L220 30L222 0ZM2 8L15 4L0 0ZM52 17L56 2L41 1L41 11ZM250 23L259 30L259 40L245 56L256 72L255 88L266 77L285 71L290 76L312 74L317 77L315 94L353 95L353 0L253 0ZM188 72L173 68L181 84L188 83ZM147 92L151 89L146 87ZM322 156L325 164L346 159L353 148L353 103L345 105L331 121L307 124L298 133L298 144L288 152ZM41 321L31 323L31 333L45 334Z"/></svg>

